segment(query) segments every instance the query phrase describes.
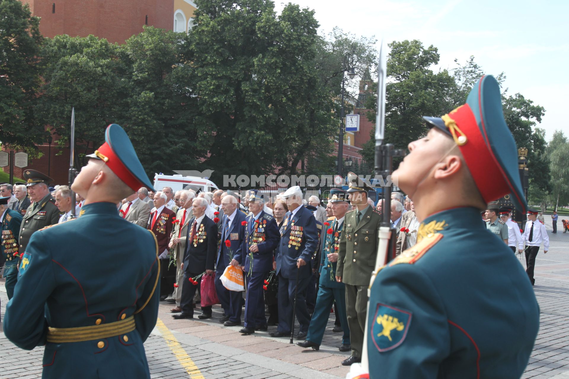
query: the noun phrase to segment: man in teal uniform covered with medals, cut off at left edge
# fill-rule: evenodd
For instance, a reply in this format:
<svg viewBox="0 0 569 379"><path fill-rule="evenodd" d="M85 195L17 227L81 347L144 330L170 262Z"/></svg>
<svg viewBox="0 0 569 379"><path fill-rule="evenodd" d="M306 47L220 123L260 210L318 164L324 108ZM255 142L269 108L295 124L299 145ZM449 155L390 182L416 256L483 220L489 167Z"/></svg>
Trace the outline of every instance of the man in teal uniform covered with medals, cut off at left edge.
<svg viewBox="0 0 569 379"><path fill-rule="evenodd" d="M6 293L8 299L14 294L20 259L18 233L22 224L22 215L8 208L10 196L0 197L0 220L2 220L2 255L6 260L4 274L6 278Z"/></svg>

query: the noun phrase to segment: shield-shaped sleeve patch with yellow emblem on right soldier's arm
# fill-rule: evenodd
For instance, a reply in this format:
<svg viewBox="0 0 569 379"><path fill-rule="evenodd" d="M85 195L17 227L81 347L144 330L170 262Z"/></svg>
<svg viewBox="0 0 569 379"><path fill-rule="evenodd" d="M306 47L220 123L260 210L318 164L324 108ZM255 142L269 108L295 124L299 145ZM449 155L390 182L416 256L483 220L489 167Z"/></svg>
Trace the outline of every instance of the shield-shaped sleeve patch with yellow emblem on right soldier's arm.
<svg viewBox="0 0 569 379"><path fill-rule="evenodd" d="M370 337L378 351L390 351L403 343L412 316L410 311L382 303L377 304Z"/></svg>

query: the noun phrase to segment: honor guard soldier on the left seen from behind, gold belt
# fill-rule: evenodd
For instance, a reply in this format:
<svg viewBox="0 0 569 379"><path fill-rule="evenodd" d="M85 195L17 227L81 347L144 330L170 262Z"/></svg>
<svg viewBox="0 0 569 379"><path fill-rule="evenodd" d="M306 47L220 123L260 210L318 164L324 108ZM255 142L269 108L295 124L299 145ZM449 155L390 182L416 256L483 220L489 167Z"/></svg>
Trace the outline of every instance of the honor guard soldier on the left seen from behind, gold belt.
<svg viewBox="0 0 569 379"><path fill-rule="evenodd" d="M143 342L158 316L158 244L117 203L152 185L117 124L88 158L72 185L81 217L32 235L4 333L23 349L45 345L44 379L150 378Z"/></svg>

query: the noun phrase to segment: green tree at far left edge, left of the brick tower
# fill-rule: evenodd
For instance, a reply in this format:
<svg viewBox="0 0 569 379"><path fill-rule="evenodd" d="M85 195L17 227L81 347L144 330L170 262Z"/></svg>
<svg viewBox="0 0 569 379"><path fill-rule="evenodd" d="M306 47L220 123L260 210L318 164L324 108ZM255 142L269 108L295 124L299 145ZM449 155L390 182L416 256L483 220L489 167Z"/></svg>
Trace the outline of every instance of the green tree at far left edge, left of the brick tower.
<svg viewBox="0 0 569 379"><path fill-rule="evenodd" d="M34 113L42 41L39 18L31 16L27 4L0 1L0 139L32 153L47 135Z"/></svg>

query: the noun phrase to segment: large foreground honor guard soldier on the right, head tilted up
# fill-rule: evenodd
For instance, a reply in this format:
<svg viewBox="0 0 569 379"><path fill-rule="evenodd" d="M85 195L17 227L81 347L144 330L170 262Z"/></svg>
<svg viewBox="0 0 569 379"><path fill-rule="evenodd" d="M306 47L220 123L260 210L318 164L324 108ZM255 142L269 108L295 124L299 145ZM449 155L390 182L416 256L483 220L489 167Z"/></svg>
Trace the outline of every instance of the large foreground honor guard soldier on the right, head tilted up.
<svg viewBox="0 0 569 379"><path fill-rule="evenodd" d="M480 222L509 193L526 210L500 85L484 76L465 105L424 119L431 130L393 173L422 220L417 244L378 268L360 377L519 378L539 307L516 257Z"/></svg>

